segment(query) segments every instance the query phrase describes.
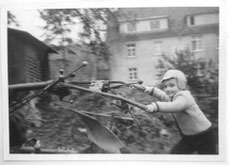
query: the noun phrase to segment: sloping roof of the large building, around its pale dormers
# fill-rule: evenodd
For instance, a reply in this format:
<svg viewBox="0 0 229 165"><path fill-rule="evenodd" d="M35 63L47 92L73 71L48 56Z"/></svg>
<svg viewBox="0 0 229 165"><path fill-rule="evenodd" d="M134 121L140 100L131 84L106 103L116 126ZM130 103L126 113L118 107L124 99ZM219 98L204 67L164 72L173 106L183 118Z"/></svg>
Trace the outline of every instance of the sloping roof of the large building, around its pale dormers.
<svg viewBox="0 0 229 165"><path fill-rule="evenodd" d="M110 34L108 33L108 38L112 40L143 40L143 39L153 39L153 38L163 38L163 37L173 37L181 35L193 35L193 34L203 34L212 33L219 31L219 25L204 25L199 27L189 27L186 23L186 17L195 14L205 14L205 13L219 13L219 7L153 7L153 8L119 8L117 12L117 23L127 21L140 21L153 18L167 18L168 19L168 30L160 32L146 32L146 33L132 33L132 34L122 34L118 32L113 33L110 28ZM113 24L114 26L114 24ZM117 24L116 24L117 26Z"/></svg>

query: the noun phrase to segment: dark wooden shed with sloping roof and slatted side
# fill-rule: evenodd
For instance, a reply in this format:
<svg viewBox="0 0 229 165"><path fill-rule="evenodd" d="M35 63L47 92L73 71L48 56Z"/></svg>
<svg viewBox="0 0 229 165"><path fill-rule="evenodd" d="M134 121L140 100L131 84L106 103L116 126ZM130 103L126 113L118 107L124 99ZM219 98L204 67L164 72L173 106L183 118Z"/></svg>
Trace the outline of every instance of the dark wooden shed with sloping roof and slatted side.
<svg viewBox="0 0 229 165"><path fill-rule="evenodd" d="M49 53L57 53L26 31L8 28L9 84L50 79Z"/></svg>

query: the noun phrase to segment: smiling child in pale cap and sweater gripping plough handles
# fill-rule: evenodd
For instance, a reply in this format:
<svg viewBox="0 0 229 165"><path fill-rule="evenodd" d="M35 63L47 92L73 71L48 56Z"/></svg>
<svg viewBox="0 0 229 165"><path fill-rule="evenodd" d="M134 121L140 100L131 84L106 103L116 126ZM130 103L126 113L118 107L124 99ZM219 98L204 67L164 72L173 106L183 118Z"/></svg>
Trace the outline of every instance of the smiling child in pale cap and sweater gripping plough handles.
<svg viewBox="0 0 229 165"><path fill-rule="evenodd" d="M171 154L216 154L216 137L211 122L200 110L194 97L187 90L183 72L169 70L162 78L163 91L145 87L145 92L160 101L146 106L147 112L173 113L182 139L173 147Z"/></svg>

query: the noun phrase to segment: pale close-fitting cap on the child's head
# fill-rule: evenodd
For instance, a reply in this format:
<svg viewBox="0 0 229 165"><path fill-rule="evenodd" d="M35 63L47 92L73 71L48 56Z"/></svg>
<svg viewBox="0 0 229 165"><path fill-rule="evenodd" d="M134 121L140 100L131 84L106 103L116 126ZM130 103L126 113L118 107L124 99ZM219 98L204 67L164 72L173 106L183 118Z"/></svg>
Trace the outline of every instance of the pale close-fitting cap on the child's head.
<svg viewBox="0 0 229 165"><path fill-rule="evenodd" d="M186 79L186 76L183 72L181 72L180 70L176 70L176 69L171 69L171 70L168 70L161 82L164 82L166 80L169 80L169 79L176 79L177 80L177 84L178 84L178 88L181 89L181 90L185 90L186 89L186 86L187 86L187 79Z"/></svg>

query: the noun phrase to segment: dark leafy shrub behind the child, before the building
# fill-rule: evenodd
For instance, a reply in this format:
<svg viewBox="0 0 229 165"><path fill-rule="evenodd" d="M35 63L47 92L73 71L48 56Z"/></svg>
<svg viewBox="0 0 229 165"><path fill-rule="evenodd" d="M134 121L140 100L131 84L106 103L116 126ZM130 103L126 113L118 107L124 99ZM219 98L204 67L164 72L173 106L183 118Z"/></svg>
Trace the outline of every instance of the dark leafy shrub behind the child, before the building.
<svg viewBox="0 0 229 165"><path fill-rule="evenodd" d="M195 94L218 96L218 65L212 60L196 58L188 49L177 51L175 55L162 55L157 68L158 76L168 69L178 69L187 77L188 87Z"/></svg>

